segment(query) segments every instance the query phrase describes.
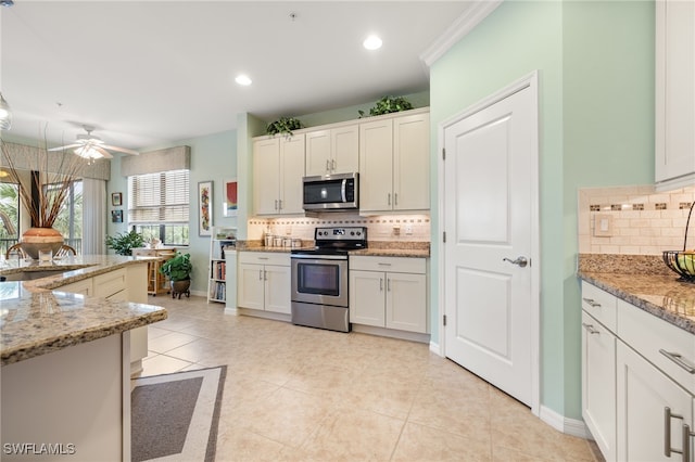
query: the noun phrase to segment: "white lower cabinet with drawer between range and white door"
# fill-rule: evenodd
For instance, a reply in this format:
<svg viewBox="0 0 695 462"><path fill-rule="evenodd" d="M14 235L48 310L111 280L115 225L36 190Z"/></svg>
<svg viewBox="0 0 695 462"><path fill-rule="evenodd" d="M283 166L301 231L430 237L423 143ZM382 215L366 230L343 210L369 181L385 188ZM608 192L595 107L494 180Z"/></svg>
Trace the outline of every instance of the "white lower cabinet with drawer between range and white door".
<svg viewBox="0 0 695 462"><path fill-rule="evenodd" d="M350 322L427 333L426 259L350 257Z"/></svg>

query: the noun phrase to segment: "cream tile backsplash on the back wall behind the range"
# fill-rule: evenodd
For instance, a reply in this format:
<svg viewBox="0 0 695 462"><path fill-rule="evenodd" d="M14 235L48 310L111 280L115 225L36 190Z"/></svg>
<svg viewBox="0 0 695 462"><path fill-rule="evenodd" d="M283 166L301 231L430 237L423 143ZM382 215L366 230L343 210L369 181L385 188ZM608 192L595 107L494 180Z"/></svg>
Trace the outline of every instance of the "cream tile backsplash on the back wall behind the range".
<svg viewBox="0 0 695 462"><path fill-rule="evenodd" d="M261 240L267 231L274 235L312 241L316 227L367 227L369 241L430 242L430 217L427 215L361 217L350 213L321 214L317 217L251 218L248 239Z"/></svg>

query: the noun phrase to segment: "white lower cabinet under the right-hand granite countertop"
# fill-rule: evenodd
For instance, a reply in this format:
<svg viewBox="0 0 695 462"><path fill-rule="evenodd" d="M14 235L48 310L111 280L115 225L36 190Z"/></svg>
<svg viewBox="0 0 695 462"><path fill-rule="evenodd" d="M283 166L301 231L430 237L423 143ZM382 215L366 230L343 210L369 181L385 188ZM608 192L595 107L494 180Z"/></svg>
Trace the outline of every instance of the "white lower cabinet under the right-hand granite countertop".
<svg viewBox="0 0 695 462"><path fill-rule="evenodd" d="M695 335L585 282L582 298L582 415L606 461L692 462Z"/></svg>

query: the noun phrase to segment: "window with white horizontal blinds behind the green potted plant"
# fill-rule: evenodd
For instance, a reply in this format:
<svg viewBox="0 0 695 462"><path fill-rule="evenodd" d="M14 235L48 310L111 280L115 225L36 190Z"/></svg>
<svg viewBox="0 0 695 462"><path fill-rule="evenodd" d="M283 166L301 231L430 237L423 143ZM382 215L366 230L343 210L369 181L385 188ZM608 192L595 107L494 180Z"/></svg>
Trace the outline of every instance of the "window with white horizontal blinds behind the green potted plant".
<svg viewBox="0 0 695 462"><path fill-rule="evenodd" d="M189 244L189 170L128 177L128 223L146 240Z"/></svg>

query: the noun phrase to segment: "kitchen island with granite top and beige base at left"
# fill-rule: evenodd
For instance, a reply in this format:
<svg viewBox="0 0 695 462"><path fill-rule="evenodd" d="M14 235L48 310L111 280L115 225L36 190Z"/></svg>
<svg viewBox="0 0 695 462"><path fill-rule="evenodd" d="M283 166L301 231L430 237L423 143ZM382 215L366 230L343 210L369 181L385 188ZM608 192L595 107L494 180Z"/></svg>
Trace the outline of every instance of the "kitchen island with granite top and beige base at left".
<svg viewBox="0 0 695 462"><path fill-rule="evenodd" d="M166 319L128 301L147 260L10 260L0 275L23 279L0 282L2 460L129 460L131 331Z"/></svg>

